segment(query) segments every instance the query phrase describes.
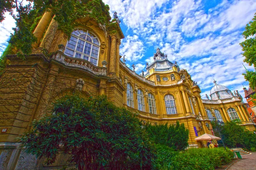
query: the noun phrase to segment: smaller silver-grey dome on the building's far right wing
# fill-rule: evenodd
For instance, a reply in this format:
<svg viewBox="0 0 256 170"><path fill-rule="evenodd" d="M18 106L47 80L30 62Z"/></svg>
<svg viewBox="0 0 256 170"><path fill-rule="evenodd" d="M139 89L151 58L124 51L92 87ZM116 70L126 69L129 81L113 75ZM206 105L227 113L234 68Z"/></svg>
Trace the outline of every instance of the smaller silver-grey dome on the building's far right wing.
<svg viewBox="0 0 256 170"><path fill-rule="evenodd" d="M218 99L230 99L233 97L232 92L224 85L218 85L214 80L214 87L210 91L210 97L212 100Z"/></svg>

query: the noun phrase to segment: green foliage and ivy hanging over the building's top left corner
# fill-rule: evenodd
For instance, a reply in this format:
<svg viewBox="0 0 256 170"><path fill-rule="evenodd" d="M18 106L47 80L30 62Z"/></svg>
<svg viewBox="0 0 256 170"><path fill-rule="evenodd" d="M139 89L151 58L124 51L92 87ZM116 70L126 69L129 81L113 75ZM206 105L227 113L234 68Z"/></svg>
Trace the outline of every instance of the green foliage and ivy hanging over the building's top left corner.
<svg viewBox="0 0 256 170"><path fill-rule="evenodd" d="M36 41L32 31L45 11L51 11L55 15L59 29L68 36L77 25L74 21L79 18L90 17L102 25L108 25L111 19L109 6L105 5L102 0L27 1L29 4L26 6L23 6L22 2L16 3L14 0L1 0L0 3L0 22L4 20L5 12L9 12L16 20L16 28L13 28L14 34L11 34L9 43L19 50L17 55L21 58L24 58L24 54L31 54L32 44ZM15 11L17 11L16 15ZM5 54L9 54L7 52Z"/></svg>

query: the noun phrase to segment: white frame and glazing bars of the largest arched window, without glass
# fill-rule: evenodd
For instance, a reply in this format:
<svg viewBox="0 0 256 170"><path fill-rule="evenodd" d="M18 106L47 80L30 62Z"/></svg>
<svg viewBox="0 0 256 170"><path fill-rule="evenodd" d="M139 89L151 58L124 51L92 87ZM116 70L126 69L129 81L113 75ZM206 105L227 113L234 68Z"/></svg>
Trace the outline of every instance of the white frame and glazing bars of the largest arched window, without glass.
<svg viewBox="0 0 256 170"><path fill-rule="evenodd" d="M80 33L80 34L78 34L78 33ZM80 37L82 35L85 35L84 39ZM87 40L87 37L90 37L90 39ZM76 40L76 45L71 43L71 41L73 41L73 40L71 40L72 38L77 39ZM97 40L98 44L93 42L94 39ZM79 40L81 42L84 42L82 51L77 50L78 45L82 45L82 43L79 44ZM89 40L91 40L92 42L90 42ZM75 41L73 41L73 42L75 42ZM73 49L71 47L68 47L68 45L73 45L73 46L75 46L75 48ZM88 45L88 47L86 45ZM90 46L90 54L84 53L84 51L86 50L85 48L89 48L89 46ZM93 49L94 47L98 48L98 54L97 54L96 57L92 56L92 54L94 54L94 52L97 51L96 49ZM71 56L71 54L69 54L67 51L73 51L73 55ZM99 38L92 31L89 31L89 30L86 30L86 29L81 29L81 28L76 28L76 29L73 30L73 32L71 33L70 39L67 41L66 48L65 48L65 51L64 51L64 54L67 55L68 57L84 59L84 60L86 60L86 61L88 61L88 62L90 62L90 63L92 63L93 65L96 65L96 66L98 66L98 64L99 64L99 53L100 53ZM79 56L80 58L77 57L77 56ZM88 60L87 60L87 58L88 58ZM91 62L91 60L93 60L93 61L97 60L97 62L93 62L93 61Z"/></svg>

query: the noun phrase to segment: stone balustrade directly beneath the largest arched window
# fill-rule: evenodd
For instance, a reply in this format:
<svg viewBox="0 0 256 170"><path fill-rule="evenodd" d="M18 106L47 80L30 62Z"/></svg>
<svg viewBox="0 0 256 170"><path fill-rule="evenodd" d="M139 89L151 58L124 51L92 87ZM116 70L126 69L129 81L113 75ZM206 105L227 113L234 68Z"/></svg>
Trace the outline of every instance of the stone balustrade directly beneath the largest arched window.
<svg viewBox="0 0 256 170"><path fill-rule="evenodd" d="M67 66L82 68L86 71L90 71L91 73L99 76L107 76L106 67L98 67L84 59L68 57L67 55L63 54L61 51L58 51L56 54L54 54L52 56L52 59L55 59L58 62L61 62Z"/></svg>

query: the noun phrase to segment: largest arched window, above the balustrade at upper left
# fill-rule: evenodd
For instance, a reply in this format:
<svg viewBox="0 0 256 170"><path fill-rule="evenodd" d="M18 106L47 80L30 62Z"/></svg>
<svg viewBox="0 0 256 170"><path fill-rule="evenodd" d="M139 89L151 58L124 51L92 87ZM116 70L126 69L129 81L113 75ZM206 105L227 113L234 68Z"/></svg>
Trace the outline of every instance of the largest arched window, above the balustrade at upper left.
<svg viewBox="0 0 256 170"><path fill-rule="evenodd" d="M99 40L93 33L88 30L76 29L71 33L64 54L98 65L99 45Z"/></svg>

